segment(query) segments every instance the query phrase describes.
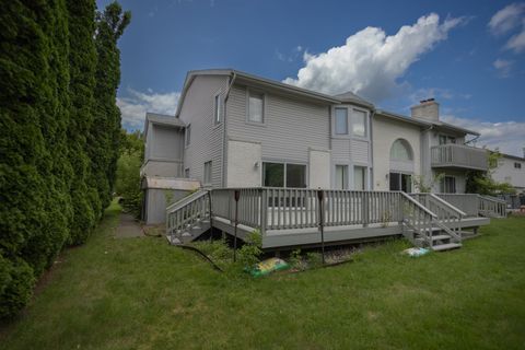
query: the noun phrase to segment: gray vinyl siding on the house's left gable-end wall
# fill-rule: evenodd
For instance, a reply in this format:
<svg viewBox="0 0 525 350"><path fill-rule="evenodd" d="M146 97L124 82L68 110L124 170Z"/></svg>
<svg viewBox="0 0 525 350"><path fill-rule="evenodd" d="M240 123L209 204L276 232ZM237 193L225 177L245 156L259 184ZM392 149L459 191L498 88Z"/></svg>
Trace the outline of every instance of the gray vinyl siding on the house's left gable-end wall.
<svg viewBox="0 0 525 350"><path fill-rule="evenodd" d="M228 77L197 75L188 89L179 118L191 126L190 144L185 147L184 168L191 178L203 182L205 163L212 162L212 185L222 186L223 126L214 124L217 93L224 95Z"/></svg>

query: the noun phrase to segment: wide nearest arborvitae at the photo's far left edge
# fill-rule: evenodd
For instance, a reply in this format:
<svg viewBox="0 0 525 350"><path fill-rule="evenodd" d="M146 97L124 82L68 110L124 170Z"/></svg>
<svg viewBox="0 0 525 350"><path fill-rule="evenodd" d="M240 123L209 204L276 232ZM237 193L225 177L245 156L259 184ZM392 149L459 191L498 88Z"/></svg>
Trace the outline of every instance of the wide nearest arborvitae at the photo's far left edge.
<svg viewBox="0 0 525 350"><path fill-rule="evenodd" d="M68 237L68 27L65 1L0 12L0 317L31 296Z"/></svg>

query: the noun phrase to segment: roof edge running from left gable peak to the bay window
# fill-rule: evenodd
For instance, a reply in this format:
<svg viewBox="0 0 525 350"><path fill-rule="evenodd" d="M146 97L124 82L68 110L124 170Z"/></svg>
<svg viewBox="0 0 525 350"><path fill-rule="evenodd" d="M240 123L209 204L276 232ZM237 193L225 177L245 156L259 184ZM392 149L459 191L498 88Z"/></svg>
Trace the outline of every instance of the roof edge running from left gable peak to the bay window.
<svg viewBox="0 0 525 350"><path fill-rule="evenodd" d="M235 70L235 69L226 68L226 69L190 70L186 74L183 92L180 93L180 98L178 101L177 110L175 113L176 118L178 118L178 116L180 115L180 108L183 106L184 100L186 98L186 94L188 92L189 86L191 85L194 79L198 75L235 75L236 79L241 78L241 79L244 79L244 80L247 80L247 81L250 81L250 82L255 82L255 83L266 85L268 88L273 88L273 89L278 89L278 90L281 90L283 92L292 93L292 94L295 94L295 95L314 98L316 101L320 101L320 102L324 102L324 103L328 103L328 104L340 104L341 103L341 101L339 98L336 98L336 97L330 96L330 95L326 95L326 94L318 93L318 92L315 92L315 91L312 91L312 90L307 90L307 89L298 88L298 86L293 86L293 85L290 85L290 84L281 83L281 82L276 81L276 80L271 80L271 79L267 79L267 78L262 78L262 77L258 77L258 75L253 75L253 74L249 74L249 73L246 73L246 72L243 72L243 71L238 71L238 70Z"/></svg>

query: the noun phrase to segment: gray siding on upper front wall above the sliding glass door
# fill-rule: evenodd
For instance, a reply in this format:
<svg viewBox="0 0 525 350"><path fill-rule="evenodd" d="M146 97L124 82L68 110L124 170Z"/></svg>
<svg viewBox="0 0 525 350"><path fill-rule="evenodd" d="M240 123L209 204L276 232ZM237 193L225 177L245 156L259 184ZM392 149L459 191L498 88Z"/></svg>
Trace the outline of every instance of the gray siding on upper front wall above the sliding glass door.
<svg viewBox="0 0 525 350"><path fill-rule="evenodd" d="M329 149L328 106L265 92L265 122L246 122L247 90L234 85L226 104L228 137L261 143L262 160L308 162L308 148Z"/></svg>

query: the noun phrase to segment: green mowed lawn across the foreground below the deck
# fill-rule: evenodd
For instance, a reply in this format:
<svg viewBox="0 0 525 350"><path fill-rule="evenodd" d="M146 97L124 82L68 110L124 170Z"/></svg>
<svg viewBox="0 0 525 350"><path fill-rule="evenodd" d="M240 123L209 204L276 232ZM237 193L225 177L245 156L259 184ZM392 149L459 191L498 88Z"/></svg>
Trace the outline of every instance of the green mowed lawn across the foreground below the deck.
<svg viewBox="0 0 525 350"><path fill-rule="evenodd" d="M458 250L413 259L392 241L249 279L162 238L116 240L118 213L63 253L2 349L525 348L525 218L493 220Z"/></svg>

